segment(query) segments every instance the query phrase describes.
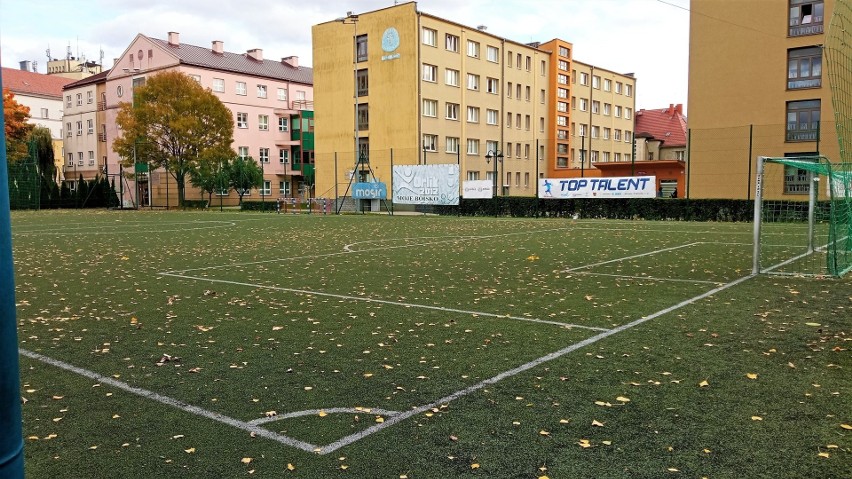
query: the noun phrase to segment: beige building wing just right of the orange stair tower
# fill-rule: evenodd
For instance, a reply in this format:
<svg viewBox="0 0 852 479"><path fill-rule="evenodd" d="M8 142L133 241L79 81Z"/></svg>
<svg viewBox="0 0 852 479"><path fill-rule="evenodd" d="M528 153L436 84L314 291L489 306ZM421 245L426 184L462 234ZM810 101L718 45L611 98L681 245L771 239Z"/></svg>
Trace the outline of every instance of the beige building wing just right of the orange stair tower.
<svg viewBox="0 0 852 479"><path fill-rule="evenodd" d="M636 111L633 74L575 60L571 76L571 149L560 163L567 159L570 168L591 176L601 175L596 163L629 163Z"/></svg>

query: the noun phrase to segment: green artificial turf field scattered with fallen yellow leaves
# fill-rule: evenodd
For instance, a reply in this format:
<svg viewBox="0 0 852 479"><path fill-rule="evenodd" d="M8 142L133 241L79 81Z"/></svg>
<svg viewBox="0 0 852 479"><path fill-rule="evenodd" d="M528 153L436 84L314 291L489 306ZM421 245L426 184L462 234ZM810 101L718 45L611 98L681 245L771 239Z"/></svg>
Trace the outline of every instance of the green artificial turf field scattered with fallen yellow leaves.
<svg viewBox="0 0 852 479"><path fill-rule="evenodd" d="M750 277L748 224L12 234L28 477L852 477L852 281Z"/></svg>

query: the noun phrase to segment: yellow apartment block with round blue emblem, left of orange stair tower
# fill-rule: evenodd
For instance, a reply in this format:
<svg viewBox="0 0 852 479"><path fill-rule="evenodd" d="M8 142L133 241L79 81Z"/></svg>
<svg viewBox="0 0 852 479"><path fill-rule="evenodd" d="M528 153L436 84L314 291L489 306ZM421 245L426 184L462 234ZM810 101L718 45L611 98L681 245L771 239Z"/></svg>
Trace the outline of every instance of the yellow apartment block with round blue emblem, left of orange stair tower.
<svg viewBox="0 0 852 479"><path fill-rule="evenodd" d="M315 25L313 58L318 191L344 196L369 172L389 182L392 164L458 163L462 179L499 179L498 194L535 194L550 52L412 2Z"/></svg>

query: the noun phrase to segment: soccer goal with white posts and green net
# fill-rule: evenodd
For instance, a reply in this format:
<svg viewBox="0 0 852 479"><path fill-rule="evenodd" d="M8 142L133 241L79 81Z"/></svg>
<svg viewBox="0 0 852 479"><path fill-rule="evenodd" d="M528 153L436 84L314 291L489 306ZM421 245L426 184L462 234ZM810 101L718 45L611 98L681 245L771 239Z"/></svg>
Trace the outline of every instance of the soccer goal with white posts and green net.
<svg viewBox="0 0 852 479"><path fill-rule="evenodd" d="M755 274L841 277L852 269L852 164L759 157ZM804 198L807 198L805 200Z"/></svg>

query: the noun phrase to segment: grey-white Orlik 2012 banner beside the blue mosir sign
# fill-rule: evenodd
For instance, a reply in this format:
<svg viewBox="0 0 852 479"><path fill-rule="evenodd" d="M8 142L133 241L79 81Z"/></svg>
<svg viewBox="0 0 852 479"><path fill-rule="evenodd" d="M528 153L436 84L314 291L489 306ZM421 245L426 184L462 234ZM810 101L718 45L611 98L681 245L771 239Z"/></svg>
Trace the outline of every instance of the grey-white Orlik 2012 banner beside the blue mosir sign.
<svg viewBox="0 0 852 479"><path fill-rule="evenodd" d="M394 166L393 201L406 205L459 204L459 165Z"/></svg>

